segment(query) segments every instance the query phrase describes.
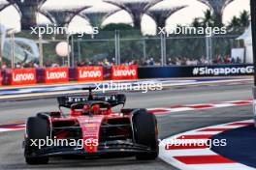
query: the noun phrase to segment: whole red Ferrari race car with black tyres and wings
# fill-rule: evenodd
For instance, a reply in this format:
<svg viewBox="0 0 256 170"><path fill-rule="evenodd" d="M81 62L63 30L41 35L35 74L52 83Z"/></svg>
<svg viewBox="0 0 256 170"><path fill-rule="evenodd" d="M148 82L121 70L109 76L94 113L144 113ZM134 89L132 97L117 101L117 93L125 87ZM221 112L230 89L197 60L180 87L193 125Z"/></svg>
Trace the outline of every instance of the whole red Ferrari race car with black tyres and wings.
<svg viewBox="0 0 256 170"><path fill-rule="evenodd" d="M123 108L124 94L92 94L93 89L83 88L89 93L82 96L58 97L59 111L27 119L26 163L46 164L51 156L128 155L139 160L158 156L155 116L146 109Z"/></svg>

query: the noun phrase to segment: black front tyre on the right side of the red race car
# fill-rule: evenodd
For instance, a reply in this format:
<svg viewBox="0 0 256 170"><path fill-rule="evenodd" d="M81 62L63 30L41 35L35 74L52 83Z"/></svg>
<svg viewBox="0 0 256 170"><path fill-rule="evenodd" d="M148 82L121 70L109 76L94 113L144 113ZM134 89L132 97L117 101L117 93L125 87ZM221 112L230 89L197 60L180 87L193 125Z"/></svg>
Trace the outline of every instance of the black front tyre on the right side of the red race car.
<svg viewBox="0 0 256 170"><path fill-rule="evenodd" d="M136 143L150 148L148 153L136 154L138 160L153 160L158 156L158 129L155 115L140 109L134 113L133 126Z"/></svg>

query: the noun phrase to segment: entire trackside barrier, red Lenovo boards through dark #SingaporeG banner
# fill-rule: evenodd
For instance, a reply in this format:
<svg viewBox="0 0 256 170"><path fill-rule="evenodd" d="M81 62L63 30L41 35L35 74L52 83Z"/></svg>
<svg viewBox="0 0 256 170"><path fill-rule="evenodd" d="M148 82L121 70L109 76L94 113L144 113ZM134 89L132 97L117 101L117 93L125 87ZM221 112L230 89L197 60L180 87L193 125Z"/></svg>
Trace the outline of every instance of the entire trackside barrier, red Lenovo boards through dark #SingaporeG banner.
<svg viewBox="0 0 256 170"><path fill-rule="evenodd" d="M172 78L198 76L252 75L252 64L213 66L143 67L81 67L5 69L0 71L0 85L27 85L68 81L125 80L138 78Z"/></svg>

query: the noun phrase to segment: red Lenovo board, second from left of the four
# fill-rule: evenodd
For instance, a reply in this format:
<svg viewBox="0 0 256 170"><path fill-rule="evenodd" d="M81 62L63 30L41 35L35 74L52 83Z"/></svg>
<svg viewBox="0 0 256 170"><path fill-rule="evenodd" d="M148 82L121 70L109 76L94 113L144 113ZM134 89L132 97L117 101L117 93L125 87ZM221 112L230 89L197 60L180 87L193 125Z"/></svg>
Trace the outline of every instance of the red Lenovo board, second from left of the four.
<svg viewBox="0 0 256 170"><path fill-rule="evenodd" d="M68 68L47 68L45 70L46 83L61 83L69 81L69 69Z"/></svg>

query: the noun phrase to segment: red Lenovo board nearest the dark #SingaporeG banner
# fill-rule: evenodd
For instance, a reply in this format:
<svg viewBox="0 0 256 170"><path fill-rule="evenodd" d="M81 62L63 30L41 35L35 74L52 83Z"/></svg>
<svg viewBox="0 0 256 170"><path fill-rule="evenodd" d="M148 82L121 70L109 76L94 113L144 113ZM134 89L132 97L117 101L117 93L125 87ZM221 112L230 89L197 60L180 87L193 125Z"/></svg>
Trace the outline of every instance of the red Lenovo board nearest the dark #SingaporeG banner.
<svg viewBox="0 0 256 170"><path fill-rule="evenodd" d="M112 80L137 79L138 67L133 66L112 66Z"/></svg>

